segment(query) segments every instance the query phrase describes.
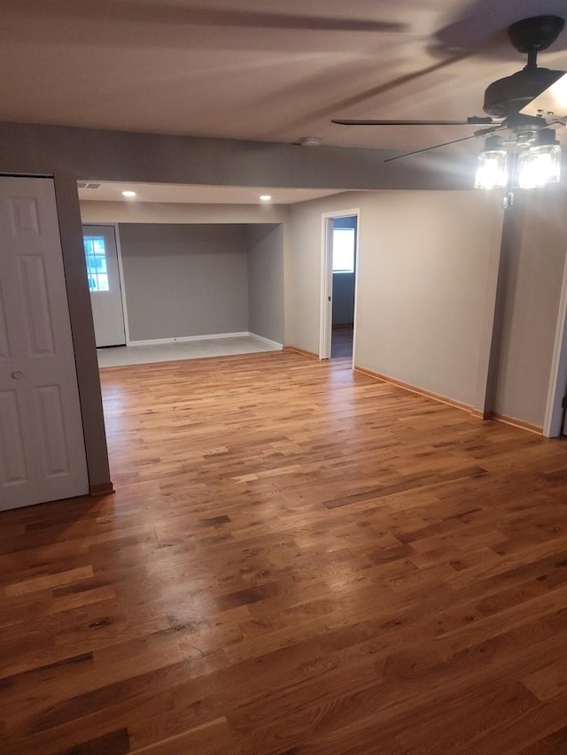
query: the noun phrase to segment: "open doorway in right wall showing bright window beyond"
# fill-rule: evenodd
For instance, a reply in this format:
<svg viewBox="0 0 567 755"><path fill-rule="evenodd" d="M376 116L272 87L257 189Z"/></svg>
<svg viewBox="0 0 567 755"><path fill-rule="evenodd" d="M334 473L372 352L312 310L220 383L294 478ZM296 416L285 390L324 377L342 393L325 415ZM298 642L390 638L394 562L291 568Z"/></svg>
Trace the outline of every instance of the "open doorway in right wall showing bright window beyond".
<svg viewBox="0 0 567 755"><path fill-rule="evenodd" d="M322 216L322 359L353 359L358 222L358 210Z"/></svg>

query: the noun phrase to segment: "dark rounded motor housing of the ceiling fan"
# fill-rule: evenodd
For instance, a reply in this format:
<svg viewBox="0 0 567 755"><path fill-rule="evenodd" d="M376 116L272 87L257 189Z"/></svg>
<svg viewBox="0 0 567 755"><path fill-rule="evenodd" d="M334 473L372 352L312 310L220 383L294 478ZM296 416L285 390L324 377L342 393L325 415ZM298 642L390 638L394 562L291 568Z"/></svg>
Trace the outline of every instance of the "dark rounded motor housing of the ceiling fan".
<svg viewBox="0 0 567 755"><path fill-rule="evenodd" d="M493 118L507 118L540 96L541 92L555 84L564 73L549 68L527 66L505 79L493 81L485 90L483 110Z"/></svg>

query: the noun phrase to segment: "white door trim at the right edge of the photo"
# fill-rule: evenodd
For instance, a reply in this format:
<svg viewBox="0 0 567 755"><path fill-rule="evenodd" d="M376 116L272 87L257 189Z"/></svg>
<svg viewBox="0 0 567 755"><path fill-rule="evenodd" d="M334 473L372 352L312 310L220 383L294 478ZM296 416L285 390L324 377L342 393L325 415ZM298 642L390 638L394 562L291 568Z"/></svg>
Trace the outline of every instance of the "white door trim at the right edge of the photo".
<svg viewBox="0 0 567 755"><path fill-rule="evenodd" d="M561 298L555 328L555 344L551 359L551 374L549 377L548 402L543 420L543 436L555 438L562 434L563 407L562 401L567 387L567 258L563 266L563 282Z"/></svg>

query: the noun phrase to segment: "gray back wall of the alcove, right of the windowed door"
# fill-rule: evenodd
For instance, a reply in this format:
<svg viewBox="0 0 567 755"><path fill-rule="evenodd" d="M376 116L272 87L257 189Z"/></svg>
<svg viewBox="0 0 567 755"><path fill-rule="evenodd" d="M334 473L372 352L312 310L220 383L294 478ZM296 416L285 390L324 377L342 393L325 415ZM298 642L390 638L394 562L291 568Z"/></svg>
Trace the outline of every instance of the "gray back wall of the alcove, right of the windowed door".
<svg viewBox="0 0 567 755"><path fill-rule="evenodd" d="M245 227L120 224L132 341L248 330Z"/></svg>

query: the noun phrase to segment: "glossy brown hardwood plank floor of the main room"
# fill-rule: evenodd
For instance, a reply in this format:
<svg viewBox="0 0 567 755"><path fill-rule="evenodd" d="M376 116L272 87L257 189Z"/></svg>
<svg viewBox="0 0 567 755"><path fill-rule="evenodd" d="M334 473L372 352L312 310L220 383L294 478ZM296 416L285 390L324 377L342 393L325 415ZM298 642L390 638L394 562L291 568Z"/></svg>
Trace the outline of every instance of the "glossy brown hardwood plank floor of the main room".
<svg viewBox="0 0 567 755"><path fill-rule="evenodd" d="M567 752L567 447L292 352L102 375L0 515L0 751Z"/></svg>

